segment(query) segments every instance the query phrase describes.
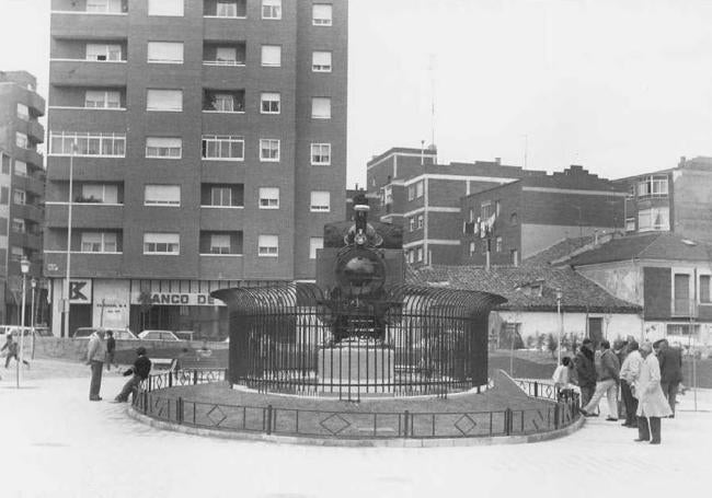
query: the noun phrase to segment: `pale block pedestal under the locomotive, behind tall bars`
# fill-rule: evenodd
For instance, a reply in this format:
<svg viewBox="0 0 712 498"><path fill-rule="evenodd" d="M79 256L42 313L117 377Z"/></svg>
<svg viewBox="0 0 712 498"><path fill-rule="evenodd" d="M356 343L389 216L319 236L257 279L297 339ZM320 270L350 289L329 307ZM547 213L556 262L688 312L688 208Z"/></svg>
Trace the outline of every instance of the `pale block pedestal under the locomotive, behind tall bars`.
<svg viewBox="0 0 712 498"><path fill-rule="evenodd" d="M322 392L391 393L395 372L393 348L349 345L319 349L317 374Z"/></svg>

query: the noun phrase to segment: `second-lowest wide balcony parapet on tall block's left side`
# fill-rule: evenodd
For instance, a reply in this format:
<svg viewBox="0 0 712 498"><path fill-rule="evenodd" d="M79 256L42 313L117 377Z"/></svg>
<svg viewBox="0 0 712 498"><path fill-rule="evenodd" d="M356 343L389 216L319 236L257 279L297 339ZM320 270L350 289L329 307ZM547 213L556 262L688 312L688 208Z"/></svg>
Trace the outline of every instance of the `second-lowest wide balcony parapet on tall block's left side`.
<svg viewBox="0 0 712 498"><path fill-rule="evenodd" d="M50 228L66 228L66 202L47 202L45 222ZM74 202L71 208L71 227L74 229L120 229L124 225L124 206L99 202Z"/></svg>

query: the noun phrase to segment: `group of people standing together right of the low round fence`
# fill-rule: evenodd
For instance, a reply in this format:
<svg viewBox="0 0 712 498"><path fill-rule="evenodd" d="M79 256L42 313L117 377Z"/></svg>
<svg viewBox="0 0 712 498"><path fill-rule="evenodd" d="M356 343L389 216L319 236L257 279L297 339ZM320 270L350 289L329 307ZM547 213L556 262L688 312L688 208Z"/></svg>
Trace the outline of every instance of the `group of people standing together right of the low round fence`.
<svg viewBox="0 0 712 498"><path fill-rule="evenodd" d="M601 340L598 351L584 339L574 360L565 357L553 375L554 385L581 390L581 413L598 416L598 404L608 401L606 420L619 419L619 386L625 420L623 427L638 428L635 441L661 443L661 419L675 417L678 386L682 382L682 355L666 339L639 345L632 337L617 340L611 349Z"/></svg>

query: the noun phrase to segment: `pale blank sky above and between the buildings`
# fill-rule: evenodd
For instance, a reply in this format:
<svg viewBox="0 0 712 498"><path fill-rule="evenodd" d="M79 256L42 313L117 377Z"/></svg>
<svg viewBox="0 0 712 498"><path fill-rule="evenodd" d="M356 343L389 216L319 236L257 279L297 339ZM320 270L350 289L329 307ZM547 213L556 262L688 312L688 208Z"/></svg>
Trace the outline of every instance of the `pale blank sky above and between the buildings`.
<svg viewBox="0 0 712 498"><path fill-rule="evenodd" d="M0 0L47 93L49 0ZM351 0L348 185L391 147L617 178L712 155L712 2ZM434 108L434 113L433 113Z"/></svg>

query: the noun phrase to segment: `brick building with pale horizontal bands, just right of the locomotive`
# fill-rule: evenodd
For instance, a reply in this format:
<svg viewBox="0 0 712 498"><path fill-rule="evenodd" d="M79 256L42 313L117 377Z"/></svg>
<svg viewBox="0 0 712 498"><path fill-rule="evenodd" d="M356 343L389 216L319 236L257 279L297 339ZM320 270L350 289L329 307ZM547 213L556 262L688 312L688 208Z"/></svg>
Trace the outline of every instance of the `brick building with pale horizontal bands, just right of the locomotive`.
<svg viewBox="0 0 712 498"><path fill-rule="evenodd" d="M495 161L437 163L437 150L392 148L367 163L367 189L380 196L381 221L403 227L403 248L415 265L460 262L460 199L476 192L546 175Z"/></svg>

